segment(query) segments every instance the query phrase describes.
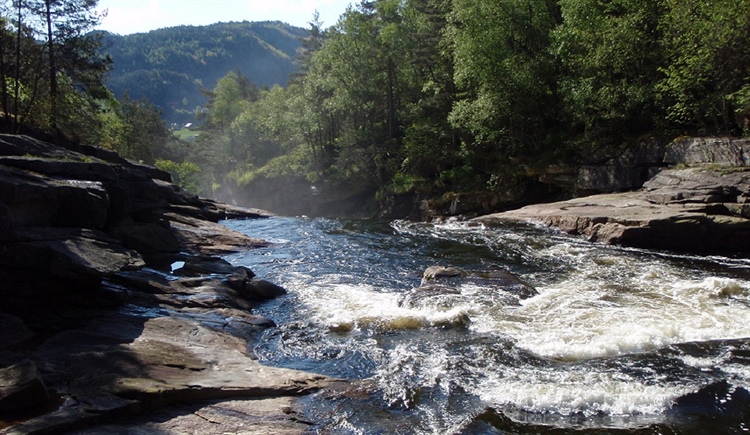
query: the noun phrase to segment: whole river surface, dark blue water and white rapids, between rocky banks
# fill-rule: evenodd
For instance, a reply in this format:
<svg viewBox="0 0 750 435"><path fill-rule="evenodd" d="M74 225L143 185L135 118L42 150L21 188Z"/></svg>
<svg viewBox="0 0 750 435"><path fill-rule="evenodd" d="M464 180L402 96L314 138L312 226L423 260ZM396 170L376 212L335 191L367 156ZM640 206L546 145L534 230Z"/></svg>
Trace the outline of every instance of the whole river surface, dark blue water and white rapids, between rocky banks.
<svg viewBox="0 0 750 435"><path fill-rule="evenodd" d="M360 380L308 400L325 433L747 433L750 261L593 245L509 225L274 217L227 257L289 295L262 362ZM505 271L403 304L433 265Z"/></svg>

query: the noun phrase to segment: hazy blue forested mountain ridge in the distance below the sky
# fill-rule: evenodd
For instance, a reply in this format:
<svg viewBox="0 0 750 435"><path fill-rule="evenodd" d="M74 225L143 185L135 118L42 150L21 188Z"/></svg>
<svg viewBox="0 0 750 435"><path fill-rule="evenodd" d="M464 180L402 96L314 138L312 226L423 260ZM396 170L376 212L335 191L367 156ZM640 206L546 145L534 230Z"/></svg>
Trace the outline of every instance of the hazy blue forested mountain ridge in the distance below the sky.
<svg viewBox="0 0 750 435"><path fill-rule="evenodd" d="M148 33L104 33L102 51L113 60L107 81L117 98L146 98L170 123L192 122L213 89L239 70L258 86L285 85L297 68L307 30L280 21L177 26Z"/></svg>

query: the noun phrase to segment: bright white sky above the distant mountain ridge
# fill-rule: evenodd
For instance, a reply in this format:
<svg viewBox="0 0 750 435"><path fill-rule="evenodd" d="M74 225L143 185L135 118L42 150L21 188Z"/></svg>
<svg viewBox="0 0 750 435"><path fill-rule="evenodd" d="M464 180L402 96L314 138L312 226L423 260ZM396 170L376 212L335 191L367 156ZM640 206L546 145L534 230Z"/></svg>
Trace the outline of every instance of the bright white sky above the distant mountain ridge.
<svg viewBox="0 0 750 435"><path fill-rule="evenodd" d="M107 10L100 30L120 35L148 32L180 25L203 26L228 21L284 21L309 27L313 13L320 13L323 27L338 21L357 0L99 0Z"/></svg>

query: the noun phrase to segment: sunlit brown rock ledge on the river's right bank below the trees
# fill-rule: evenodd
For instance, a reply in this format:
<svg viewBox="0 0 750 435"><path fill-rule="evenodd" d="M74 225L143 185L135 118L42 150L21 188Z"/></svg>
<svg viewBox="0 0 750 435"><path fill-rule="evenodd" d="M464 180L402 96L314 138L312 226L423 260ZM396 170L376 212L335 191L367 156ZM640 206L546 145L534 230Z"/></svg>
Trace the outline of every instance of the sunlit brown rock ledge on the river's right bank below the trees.
<svg viewBox="0 0 750 435"><path fill-rule="evenodd" d="M535 204L475 221L531 221L592 242L747 255L750 140L676 140L662 163L669 168L652 168L656 174L635 191Z"/></svg>

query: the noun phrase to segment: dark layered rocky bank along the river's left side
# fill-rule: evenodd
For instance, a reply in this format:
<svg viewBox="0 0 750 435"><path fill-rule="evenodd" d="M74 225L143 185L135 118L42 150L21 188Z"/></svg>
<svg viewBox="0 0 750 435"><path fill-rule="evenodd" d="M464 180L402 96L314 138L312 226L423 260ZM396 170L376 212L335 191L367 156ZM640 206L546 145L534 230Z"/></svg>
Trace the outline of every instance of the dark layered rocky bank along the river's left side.
<svg viewBox="0 0 750 435"><path fill-rule="evenodd" d="M295 398L332 380L249 350L273 326L252 308L284 289L215 256L266 244L219 220L267 216L0 135L0 433L307 430Z"/></svg>

